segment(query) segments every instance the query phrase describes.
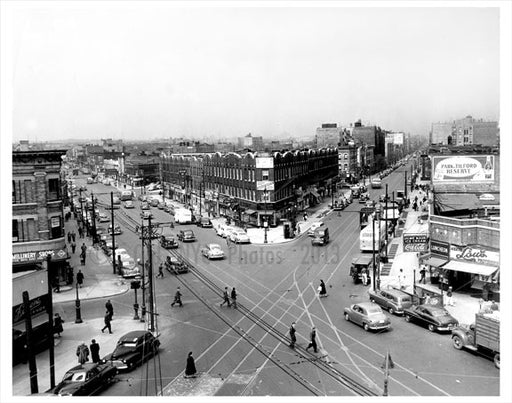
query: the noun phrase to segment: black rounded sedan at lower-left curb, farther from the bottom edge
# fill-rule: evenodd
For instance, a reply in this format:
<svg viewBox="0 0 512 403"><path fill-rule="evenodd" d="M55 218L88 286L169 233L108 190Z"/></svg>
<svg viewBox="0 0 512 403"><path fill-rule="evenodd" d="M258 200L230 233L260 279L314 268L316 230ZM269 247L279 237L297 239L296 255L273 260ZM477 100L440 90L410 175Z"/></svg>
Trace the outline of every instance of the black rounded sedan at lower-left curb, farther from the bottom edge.
<svg viewBox="0 0 512 403"><path fill-rule="evenodd" d="M131 370L158 354L160 340L151 332L134 330L126 333L117 342L115 350L103 358L118 370Z"/></svg>

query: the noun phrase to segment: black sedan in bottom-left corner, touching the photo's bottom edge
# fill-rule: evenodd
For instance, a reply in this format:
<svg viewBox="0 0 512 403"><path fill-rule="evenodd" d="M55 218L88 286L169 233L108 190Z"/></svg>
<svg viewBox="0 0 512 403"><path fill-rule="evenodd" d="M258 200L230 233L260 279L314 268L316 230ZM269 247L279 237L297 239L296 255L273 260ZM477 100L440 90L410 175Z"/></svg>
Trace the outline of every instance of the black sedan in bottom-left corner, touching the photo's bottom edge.
<svg viewBox="0 0 512 403"><path fill-rule="evenodd" d="M59 396L93 396L110 385L116 375L117 368L110 363L77 365L66 372L52 392Z"/></svg>

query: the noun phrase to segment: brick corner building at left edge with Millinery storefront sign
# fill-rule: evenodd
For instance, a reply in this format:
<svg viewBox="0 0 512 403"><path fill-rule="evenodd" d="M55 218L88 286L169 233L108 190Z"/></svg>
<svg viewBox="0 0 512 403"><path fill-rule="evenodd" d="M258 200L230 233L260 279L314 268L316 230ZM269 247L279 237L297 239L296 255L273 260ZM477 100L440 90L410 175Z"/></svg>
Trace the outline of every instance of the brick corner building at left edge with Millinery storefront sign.
<svg viewBox="0 0 512 403"><path fill-rule="evenodd" d="M67 276L62 156L66 150L12 153L13 272L38 269L51 255L55 281Z"/></svg>

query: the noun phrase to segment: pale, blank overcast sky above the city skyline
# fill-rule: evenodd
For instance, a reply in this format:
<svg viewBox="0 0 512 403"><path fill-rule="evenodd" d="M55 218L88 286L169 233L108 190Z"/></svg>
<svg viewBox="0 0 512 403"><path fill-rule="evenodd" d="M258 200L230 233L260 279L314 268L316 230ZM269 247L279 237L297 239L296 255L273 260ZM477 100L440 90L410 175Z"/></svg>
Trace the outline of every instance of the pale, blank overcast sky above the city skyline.
<svg viewBox="0 0 512 403"><path fill-rule="evenodd" d="M497 8L92 3L14 14L14 140L307 137L357 119L426 135L500 118Z"/></svg>

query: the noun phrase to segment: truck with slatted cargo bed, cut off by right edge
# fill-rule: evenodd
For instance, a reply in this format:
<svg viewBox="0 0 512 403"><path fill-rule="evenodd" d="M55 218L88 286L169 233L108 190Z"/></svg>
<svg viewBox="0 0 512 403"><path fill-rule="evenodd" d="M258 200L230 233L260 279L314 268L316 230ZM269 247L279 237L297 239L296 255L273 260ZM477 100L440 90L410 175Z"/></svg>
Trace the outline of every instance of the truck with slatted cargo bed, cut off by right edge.
<svg viewBox="0 0 512 403"><path fill-rule="evenodd" d="M494 360L500 367L500 313L477 313L475 323L459 325L452 330L453 347L478 352Z"/></svg>

